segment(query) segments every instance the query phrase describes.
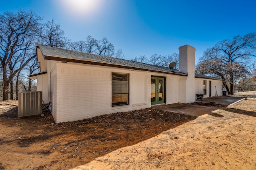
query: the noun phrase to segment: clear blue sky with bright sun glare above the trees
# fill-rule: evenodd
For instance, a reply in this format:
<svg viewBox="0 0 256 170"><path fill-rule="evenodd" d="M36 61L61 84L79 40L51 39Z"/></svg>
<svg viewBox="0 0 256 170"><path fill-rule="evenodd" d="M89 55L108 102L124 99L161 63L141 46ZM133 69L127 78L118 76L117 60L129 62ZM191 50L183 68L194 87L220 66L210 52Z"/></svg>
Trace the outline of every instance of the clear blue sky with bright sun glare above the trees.
<svg viewBox="0 0 256 170"><path fill-rule="evenodd" d="M0 13L33 10L59 23L72 41L107 37L125 59L178 53L178 47L203 52L223 39L256 32L252 0L8 0Z"/></svg>

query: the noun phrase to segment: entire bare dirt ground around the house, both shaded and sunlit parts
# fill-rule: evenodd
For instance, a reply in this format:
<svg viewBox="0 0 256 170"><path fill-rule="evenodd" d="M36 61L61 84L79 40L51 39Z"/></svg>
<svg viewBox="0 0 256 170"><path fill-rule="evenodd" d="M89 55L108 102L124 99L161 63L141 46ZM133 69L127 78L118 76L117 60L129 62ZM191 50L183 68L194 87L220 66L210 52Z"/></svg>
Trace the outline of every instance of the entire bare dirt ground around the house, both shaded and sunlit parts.
<svg viewBox="0 0 256 170"><path fill-rule="evenodd" d="M54 124L50 113L17 119L17 102L0 102L0 170L256 169L255 104L201 117L150 108Z"/></svg>

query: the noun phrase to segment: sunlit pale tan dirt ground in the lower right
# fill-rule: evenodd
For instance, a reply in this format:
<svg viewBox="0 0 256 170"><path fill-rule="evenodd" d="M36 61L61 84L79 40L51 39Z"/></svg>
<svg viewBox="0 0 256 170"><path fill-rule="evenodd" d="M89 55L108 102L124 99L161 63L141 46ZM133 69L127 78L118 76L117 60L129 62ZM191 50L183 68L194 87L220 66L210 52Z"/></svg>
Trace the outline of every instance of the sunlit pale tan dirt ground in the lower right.
<svg viewBox="0 0 256 170"><path fill-rule="evenodd" d="M75 170L256 169L256 99L219 108Z"/></svg>

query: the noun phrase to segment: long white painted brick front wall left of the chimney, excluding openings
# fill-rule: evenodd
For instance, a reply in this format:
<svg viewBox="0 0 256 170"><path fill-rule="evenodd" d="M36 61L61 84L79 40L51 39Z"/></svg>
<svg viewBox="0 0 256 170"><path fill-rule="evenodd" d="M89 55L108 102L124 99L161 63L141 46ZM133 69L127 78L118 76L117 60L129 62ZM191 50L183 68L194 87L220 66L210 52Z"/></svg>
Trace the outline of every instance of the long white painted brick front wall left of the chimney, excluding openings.
<svg viewBox="0 0 256 170"><path fill-rule="evenodd" d="M56 72L56 76L54 75ZM130 104L112 107L112 72L130 74ZM56 63L52 70L52 114L56 123L151 107L152 72L87 64ZM166 76L166 104L179 102L179 80ZM178 80L178 81L177 81Z"/></svg>

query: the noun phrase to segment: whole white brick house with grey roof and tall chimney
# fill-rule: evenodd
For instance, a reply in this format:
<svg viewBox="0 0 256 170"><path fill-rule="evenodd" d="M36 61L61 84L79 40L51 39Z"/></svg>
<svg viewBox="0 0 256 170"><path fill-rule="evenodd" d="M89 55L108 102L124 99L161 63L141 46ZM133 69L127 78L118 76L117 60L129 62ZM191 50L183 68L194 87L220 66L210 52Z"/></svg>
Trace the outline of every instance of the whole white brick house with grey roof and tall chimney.
<svg viewBox="0 0 256 170"><path fill-rule="evenodd" d="M179 47L180 70L36 45L37 90L56 123L222 94L222 80L194 74L195 48Z"/></svg>

